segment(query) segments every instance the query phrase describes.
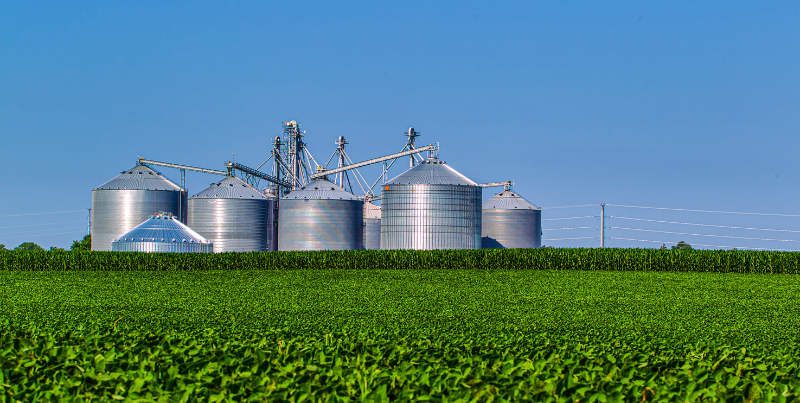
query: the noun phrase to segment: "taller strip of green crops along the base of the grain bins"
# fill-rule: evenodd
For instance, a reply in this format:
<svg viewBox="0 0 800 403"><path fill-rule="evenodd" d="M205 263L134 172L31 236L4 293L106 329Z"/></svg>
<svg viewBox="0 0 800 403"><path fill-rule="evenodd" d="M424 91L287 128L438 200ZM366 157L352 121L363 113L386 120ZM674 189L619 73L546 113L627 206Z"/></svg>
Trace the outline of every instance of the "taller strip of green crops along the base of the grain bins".
<svg viewBox="0 0 800 403"><path fill-rule="evenodd" d="M152 254L6 251L0 270L516 269L799 273L800 252L659 249Z"/></svg>

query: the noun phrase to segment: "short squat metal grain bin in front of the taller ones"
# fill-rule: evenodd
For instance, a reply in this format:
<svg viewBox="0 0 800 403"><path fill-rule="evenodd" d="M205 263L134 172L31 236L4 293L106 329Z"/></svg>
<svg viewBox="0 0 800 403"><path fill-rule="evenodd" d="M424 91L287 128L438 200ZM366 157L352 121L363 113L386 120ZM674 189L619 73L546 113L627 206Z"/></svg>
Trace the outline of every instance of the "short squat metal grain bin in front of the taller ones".
<svg viewBox="0 0 800 403"><path fill-rule="evenodd" d="M159 212L111 242L114 252L201 252L213 245L172 214Z"/></svg>

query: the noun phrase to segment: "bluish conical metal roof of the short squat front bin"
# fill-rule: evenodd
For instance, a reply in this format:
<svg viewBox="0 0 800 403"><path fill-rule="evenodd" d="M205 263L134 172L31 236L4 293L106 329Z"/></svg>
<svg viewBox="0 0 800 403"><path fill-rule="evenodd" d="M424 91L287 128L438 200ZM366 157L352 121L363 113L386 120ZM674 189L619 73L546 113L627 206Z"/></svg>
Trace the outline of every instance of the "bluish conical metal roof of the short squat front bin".
<svg viewBox="0 0 800 403"><path fill-rule="evenodd" d="M158 213L150 216L145 222L137 225L114 241L211 243L169 213Z"/></svg>

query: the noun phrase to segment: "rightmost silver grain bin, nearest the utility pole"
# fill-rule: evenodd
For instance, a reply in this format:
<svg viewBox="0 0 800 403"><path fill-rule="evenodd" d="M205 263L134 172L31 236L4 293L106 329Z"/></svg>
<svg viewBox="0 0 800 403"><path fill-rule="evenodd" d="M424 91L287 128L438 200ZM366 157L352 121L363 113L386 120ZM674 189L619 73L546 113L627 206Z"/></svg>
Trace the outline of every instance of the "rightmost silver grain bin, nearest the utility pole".
<svg viewBox="0 0 800 403"><path fill-rule="evenodd" d="M506 189L483 203L483 248L539 248L542 209Z"/></svg>

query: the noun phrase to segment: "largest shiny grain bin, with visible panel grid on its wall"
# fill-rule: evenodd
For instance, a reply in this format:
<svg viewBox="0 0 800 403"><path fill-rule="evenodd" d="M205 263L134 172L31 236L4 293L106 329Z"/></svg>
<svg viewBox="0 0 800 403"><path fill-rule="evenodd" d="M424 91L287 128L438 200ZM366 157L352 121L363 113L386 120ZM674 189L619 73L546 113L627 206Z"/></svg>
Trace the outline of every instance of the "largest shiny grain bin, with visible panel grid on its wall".
<svg viewBox="0 0 800 403"><path fill-rule="evenodd" d="M429 157L381 191L381 249L477 249L481 188Z"/></svg>

